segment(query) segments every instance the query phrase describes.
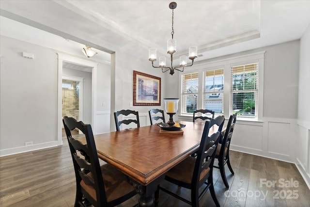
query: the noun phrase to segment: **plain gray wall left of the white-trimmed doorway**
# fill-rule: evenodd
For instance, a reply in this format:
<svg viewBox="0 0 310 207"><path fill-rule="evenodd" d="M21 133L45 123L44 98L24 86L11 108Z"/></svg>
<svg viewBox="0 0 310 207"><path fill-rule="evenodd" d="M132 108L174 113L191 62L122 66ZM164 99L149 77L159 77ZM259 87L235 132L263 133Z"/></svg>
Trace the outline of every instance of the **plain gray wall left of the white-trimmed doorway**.
<svg viewBox="0 0 310 207"><path fill-rule="evenodd" d="M57 55L0 36L0 149L57 140ZM34 54L34 59L21 56Z"/></svg>

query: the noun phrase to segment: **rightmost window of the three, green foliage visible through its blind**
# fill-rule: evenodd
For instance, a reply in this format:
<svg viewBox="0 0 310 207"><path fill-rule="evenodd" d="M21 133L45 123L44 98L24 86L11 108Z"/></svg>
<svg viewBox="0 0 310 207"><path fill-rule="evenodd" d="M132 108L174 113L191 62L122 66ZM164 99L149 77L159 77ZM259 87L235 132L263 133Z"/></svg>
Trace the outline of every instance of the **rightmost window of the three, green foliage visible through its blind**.
<svg viewBox="0 0 310 207"><path fill-rule="evenodd" d="M257 118L258 64L232 67L232 111L238 117Z"/></svg>

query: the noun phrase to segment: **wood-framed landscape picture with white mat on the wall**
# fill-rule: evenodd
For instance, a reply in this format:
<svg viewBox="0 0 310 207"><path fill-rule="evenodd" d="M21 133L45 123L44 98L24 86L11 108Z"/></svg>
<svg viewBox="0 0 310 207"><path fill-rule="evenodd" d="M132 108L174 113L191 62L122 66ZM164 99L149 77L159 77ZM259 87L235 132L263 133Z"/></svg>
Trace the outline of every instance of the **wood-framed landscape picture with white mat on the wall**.
<svg viewBox="0 0 310 207"><path fill-rule="evenodd" d="M133 105L160 106L161 79L134 70Z"/></svg>

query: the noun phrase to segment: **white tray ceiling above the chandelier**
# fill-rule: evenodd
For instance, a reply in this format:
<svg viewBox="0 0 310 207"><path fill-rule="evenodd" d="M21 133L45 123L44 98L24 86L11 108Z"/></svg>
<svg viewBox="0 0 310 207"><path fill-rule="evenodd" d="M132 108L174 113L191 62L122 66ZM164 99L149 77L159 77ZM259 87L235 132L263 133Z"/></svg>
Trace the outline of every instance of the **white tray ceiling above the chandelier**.
<svg viewBox="0 0 310 207"><path fill-rule="evenodd" d="M92 47L111 52L144 48L166 53L171 38L171 0L1 0L6 16L63 37L75 31L88 39L68 41L33 27L0 18L2 35L36 42L72 54ZM197 45L199 60L299 39L310 24L310 0L178 0L174 10L177 55ZM35 8L35 9L34 9ZM47 26L47 27L46 27ZM47 35L47 36L46 36ZM82 35L81 35L82 36ZM70 39L70 38L69 38ZM66 43L64 43L66 42ZM92 45L93 43L93 45ZM70 46L71 45L71 46ZM102 55L102 56L101 56ZM109 61L107 53L93 57ZM148 54L145 60L148 61Z"/></svg>

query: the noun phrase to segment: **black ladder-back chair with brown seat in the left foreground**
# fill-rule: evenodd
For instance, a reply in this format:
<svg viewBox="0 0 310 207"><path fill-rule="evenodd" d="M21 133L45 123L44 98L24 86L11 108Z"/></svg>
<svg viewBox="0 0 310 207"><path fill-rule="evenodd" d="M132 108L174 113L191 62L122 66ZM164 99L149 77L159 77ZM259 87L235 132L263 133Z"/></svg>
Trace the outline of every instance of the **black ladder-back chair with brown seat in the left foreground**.
<svg viewBox="0 0 310 207"><path fill-rule="evenodd" d="M74 207L114 207L136 195L127 176L111 166L100 166L91 125L64 116L63 126L67 135L76 176L76 200ZM78 128L85 134L86 144L72 137Z"/></svg>

